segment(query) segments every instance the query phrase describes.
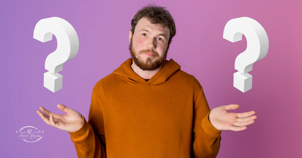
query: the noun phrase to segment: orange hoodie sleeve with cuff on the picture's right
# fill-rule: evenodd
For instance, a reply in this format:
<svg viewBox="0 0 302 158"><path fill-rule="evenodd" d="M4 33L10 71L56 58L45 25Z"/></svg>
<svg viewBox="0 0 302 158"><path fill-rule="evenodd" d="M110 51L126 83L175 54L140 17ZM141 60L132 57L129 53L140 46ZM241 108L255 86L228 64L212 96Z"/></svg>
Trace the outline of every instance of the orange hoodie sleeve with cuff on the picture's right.
<svg viewBox="0 0 302 158"><path fill-rule="evenodd" d="M196 158L215 158L220 149L221 130L209 121L210 108L202 87L194 103L192 152Z"/></svg>

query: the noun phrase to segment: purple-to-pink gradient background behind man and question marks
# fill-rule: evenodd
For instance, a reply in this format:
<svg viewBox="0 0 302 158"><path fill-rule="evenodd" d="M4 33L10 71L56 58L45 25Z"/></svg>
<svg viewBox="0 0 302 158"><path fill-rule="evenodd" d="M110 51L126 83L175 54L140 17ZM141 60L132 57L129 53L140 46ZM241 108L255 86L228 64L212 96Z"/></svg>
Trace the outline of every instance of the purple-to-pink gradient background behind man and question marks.
<svg viewBox="0 0 302 158"><path fill-rule="evenodd" d="M222 131L217 157L302 157L299 0L1 1L0 157L77 157L68 132L47 125L36 111L43 106L65 114L56 107L63 104L88 118L93 86L130 58L131 19L152 2L166 7L175 20L167 60L198 79L210 109L239 104L230 112L256 111L258 118L246 130ZM233 87L233 73L246 38L235 43L223 39L226 23L244 16L258 21L269 39L267 55L249 72L252 89L245 93ZM45 43L33 38L37 22L50 17L68 21L79 37L79 52L59 72L63 88L55 93L43 87L43 73L46 57L56 50L56 37ZM24 126L44 130L43 138L20 140L15 131Z"/></svg>

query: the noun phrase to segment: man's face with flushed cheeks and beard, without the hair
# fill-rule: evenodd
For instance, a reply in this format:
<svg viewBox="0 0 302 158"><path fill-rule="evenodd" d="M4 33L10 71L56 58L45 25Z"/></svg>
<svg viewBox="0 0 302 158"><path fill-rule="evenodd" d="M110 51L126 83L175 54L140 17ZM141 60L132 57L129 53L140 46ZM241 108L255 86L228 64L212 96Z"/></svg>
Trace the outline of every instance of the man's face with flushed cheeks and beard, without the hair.
<svg viewBox="0 0 302 158"><path fill-rule="evenodd" d="M133 37L132 31L129 31L129 50L135 65L144 71L152 71L162 66L172 42L171 40L168 45L169 37L169 28L153 25L146 18L141 18L137 22ZM153 54L153 56L148 56L145 53Z"/></svg>

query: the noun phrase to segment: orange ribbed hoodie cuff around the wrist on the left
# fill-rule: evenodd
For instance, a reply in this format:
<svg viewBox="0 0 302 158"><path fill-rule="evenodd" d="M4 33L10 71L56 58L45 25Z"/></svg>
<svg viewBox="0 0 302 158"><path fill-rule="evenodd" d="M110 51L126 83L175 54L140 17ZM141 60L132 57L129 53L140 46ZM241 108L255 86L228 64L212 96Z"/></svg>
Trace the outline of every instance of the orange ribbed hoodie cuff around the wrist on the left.
<svg viewBox="0 0 302 158"><path fill-rule="evenodd" d="M72 141L79 141L79 140L84 139L85 137L87 137L87 135L90 131L90 125L88 124L88 122L86 121L86 119L84 118L83 115L82 115L82 118L83 118L82 127L78 131L68 132L71 136Z"/></svg>

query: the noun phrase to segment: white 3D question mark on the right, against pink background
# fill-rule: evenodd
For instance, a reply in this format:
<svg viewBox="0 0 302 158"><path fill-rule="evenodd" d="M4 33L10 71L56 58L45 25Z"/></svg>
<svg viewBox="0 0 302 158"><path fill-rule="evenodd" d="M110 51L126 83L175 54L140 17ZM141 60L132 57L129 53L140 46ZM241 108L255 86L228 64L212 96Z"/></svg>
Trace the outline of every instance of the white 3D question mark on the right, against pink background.
<svg viewBox="0 0 302 158"><path fill-rule="evenodd" d="M263 59L268 52L268 36L264 28L254 19L241 17L231 19L226 23L223 30L223 38L231 42L242 40L242 34L246 37L246 50L240 53L235 60L233 86L241 92L252 89L252 75L247 72L252 71L253 64Z"/></svg>

